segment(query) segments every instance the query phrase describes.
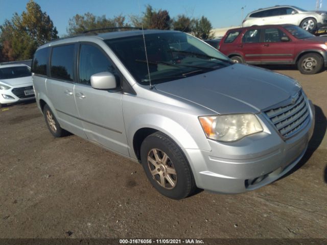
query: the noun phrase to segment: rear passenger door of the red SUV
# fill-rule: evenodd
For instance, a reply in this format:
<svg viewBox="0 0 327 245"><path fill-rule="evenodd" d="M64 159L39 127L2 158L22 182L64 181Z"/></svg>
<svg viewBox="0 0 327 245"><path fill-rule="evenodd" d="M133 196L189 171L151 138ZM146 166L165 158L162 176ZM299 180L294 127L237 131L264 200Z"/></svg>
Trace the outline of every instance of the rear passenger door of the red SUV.
<svg viewBox="0 0 327 245"><path fill-rule="evenodd" d="M246 63L261 63L261 45L261 29L251 29L244 33L239 47Z"/></svg>

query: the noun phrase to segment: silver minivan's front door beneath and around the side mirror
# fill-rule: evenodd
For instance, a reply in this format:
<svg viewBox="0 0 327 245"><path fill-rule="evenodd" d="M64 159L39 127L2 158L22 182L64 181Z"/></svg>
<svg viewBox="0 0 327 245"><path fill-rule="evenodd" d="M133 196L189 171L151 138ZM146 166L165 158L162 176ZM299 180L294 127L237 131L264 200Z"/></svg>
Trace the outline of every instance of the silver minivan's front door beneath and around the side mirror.
<svg viewBox="0 0 327 245"><path fill-rule="evenodd" d="M119 84L121 75L107 54L96 44L81 43L78 56L78 83L74 94L87 138L129 156L122 111L122 90L91 87L90 78L108 71Z"/></svg>

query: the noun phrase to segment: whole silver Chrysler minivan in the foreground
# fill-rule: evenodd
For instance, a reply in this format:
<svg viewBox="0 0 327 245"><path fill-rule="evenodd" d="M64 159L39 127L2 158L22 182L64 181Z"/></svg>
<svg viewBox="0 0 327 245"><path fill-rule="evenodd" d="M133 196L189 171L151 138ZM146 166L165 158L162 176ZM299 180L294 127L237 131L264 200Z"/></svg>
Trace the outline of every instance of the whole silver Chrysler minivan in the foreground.
<svg viewBox="0 0 327 245"><path fill-rule="evenodd" d="M293 79L235 64L182 32L81 35L38 48L36 101L76 134L143 164L169 198L253 190L305 154L314 107Z"/></svg>

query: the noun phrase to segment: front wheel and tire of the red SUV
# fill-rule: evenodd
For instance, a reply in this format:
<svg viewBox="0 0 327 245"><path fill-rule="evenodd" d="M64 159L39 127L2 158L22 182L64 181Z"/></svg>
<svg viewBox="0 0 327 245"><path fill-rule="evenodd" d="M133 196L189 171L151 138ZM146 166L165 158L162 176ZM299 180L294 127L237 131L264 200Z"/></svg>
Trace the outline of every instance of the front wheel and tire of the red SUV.
<svg viewBox="0 0 327 245"><path fill-rule="evenodd" d="M324 62L321 55L316 53L309 53L303 55L297 61L297 68L301 74L312 75L321 71L323 63Z"/></svg>

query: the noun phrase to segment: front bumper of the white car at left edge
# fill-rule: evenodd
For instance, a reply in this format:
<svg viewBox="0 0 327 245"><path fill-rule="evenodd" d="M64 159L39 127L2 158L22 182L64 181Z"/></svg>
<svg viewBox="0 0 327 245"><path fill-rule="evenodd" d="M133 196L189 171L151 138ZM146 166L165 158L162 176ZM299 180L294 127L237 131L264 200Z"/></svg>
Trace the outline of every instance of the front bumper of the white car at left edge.
<svg viewBox="0 0 327 245"><path fill-rule="evenodd" d="M12 104L20 101L32 100L35 98L35 94L25 94L25 91L33 89L33 84L22 84L15 86L8 90L0 90L0 103L1 104ZM13 99L6 99L4 95L9 95Z"/></svg>

